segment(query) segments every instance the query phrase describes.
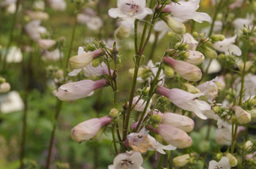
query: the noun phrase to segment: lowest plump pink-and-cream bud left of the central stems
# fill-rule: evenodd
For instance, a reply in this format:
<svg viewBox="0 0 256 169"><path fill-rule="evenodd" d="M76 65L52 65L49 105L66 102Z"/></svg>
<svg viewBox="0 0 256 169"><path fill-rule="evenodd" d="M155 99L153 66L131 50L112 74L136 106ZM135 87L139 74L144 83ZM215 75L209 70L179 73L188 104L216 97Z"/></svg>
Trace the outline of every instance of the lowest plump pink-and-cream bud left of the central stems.
<svg viewBox="0 0 256 169"><path fill-rule="evenodd" d="M77 142L92 139L102 127L112 122L110 117L90 119L79 123L71 131L71 138Z"/></svg>

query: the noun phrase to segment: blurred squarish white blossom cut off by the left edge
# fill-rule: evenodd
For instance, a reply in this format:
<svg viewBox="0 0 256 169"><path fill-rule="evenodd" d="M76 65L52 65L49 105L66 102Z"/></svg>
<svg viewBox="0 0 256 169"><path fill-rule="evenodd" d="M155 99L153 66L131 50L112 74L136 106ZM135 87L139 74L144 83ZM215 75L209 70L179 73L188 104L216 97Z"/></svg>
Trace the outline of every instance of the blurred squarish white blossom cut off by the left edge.
<svg viewBox="0 0 256 169"><path fill-rule="evenodd" d="M2 113L22 111L24 103L17 91L9 91L5 95L0 96L0 110Z"/></svg>

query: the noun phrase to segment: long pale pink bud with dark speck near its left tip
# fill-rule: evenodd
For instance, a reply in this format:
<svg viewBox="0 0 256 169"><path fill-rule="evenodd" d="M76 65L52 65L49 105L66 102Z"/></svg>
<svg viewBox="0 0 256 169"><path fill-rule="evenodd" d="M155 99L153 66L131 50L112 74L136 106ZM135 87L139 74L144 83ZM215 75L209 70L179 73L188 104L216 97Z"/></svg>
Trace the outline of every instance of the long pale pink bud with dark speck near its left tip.
<svg viewBox="0 0 256 169"><path fill-rule="evenodd" d="M60 86L55 95L60 100L77 100L79 98L85 98L92 91L95 91L98 88L103 88L105 86L108 86L105 79L101 79L99 81L77 81Z"/></svg>

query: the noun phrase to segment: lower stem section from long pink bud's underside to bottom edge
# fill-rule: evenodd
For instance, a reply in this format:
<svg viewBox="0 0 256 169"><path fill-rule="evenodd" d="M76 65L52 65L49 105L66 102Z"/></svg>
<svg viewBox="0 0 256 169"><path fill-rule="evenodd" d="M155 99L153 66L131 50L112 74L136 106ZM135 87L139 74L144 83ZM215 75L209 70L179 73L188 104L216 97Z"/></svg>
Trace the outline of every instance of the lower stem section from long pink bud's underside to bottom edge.
<svg viewBox="0 0 256 169"><path fill-rule="evenodd" d="M61 109L62 105L63 105L63 101L61 101L57 98L57 103L56 103L56 108L55 108L55 117L54 117L54 122L53 122L53 131L51 133L50 144L48 146L48 157L47 157L47 162L46 162L46 169L50 168L50 157L51 157L52 148L53 148L55 130L57 128L58 117L60 115L60 109Z"/></svg>

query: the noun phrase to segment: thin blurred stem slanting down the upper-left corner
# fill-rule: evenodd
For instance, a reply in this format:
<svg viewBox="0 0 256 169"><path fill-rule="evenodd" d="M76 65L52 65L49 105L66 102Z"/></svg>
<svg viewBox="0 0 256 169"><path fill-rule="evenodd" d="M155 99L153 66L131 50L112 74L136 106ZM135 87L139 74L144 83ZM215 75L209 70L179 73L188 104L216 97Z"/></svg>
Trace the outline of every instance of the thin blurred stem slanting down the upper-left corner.
<svg viewBox="0 0 256 169"><path fill-rule="evenodd" d="M14 18L13 18L13 24L11 25L11 32L10 32L10 35L9 35L9 42L8 42L8 45L6 47L6 53L4 54L4 59L3 59L3 69L6 68L6 57L7 57L7 54L9 52L9 48L11 47L11 43L13 42L14 40L14 27L16 25L16 21L17 21L17 14L18 14L18 6L20 6L21 4L21 0L18 0L16 1L16 10L15 10L15 13L14 13ZM0 58L0 61L2 60L2 58Z"/></svg>

